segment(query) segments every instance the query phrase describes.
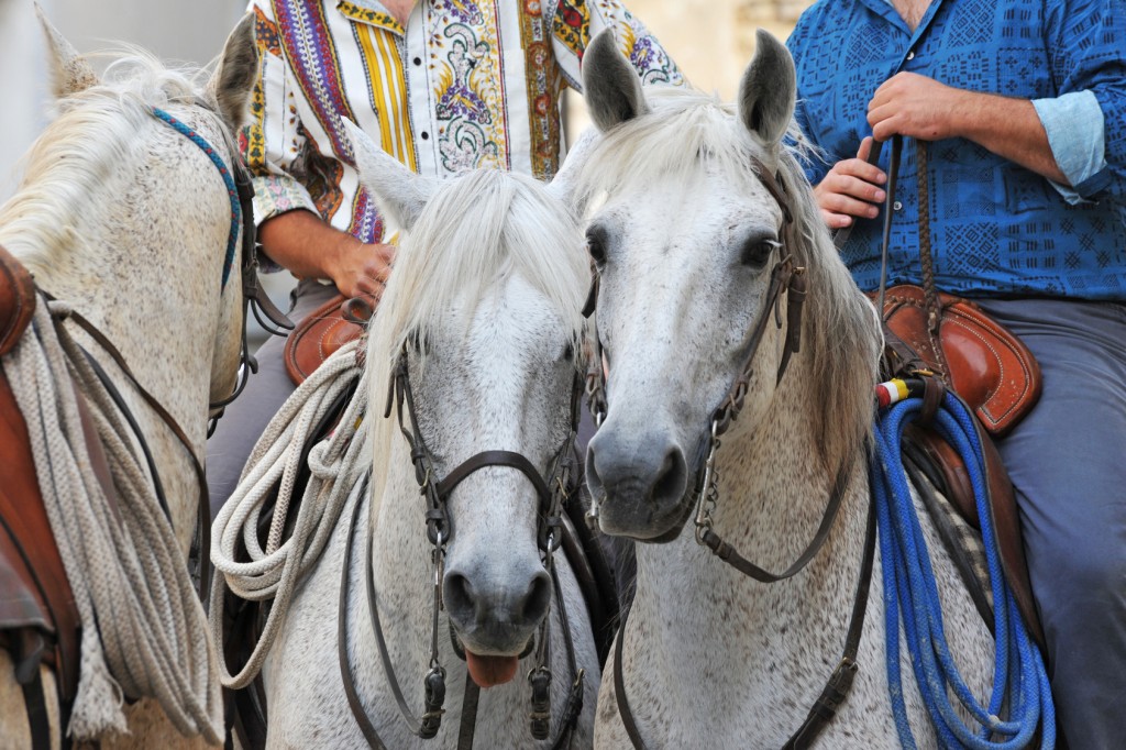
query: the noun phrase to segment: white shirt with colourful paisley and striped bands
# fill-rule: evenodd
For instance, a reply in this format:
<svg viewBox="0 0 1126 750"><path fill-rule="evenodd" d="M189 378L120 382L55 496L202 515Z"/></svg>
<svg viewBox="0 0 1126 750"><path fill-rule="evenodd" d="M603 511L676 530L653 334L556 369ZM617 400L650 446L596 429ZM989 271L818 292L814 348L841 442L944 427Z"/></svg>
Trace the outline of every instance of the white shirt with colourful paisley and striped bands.
<svg viewBox="0 0 1126 750"><path fill-rule="evenodd" d="M319 213L365 242L386 230L340 117L423 175L494 167L552 177L560 96L611 27L646 83L680 83L618 0L420 0L404 28L377 0L251 0L260 75L241 137L256 217ZM390 232L388 232L390 233Z"/></svg>

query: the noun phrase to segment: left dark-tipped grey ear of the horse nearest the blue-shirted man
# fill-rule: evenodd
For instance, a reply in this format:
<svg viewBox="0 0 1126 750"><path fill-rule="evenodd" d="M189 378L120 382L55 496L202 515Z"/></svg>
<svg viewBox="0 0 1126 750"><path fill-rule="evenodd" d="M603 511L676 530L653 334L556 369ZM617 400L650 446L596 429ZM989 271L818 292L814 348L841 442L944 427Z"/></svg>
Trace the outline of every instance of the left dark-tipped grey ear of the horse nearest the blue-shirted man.
<svg viewBox="0 0 1126 750"><path fill-rule="evenodd" d="M608 28L599 32L582 56L582 96L591 120L604 133L649 113L637 71L618 50Z"/></svg>

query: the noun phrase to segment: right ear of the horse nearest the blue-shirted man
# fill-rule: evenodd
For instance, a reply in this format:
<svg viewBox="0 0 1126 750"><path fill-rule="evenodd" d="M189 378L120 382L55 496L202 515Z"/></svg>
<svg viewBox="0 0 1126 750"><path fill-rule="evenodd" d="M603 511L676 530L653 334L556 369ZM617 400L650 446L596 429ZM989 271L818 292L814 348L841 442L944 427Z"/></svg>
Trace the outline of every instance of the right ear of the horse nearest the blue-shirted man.
<svg viewBox="0 0 1126 750"><path fill-rule="evenodd" d="M794 116L797 73L789 50L769 32L754 36L754 57L739 82L739 118L768 148L778 145Z"/></svg>

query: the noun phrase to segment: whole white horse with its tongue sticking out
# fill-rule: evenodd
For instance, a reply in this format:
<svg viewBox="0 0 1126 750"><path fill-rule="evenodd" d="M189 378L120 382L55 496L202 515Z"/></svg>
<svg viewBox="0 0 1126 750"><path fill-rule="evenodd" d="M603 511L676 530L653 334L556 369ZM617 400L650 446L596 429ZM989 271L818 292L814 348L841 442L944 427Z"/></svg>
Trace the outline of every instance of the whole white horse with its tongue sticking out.
<svg viewBox="0 0 1126 750"><path fill-rule="evenodd" d="M372 488L350 501L355 532L347 512L336 525L266 660L267 744L365 747L358 722L369 721L378 741L396 749L461 747L458 735L471 730L475 747L551 747L561 732L573 747L589 747L599 662L562 552L554 555L557 588L545 568L547 498L536 486L538 477L554 483L552 467L568 449L580 309L590 282L578 222L552 194L562 180L545 188L531 178L482 170L439 182L378 152L358 128L350 132L363 181L404 229L395 271L369 327L365 420L374 452ZM395 412L382 419L396 372L413 396L401 423L430 462L418 473ZM518 453L530 463L493 455L470 462L480 471L458 471L482 452ZM430 529L445 544L444 614L435 628L438 573L419 489L423 480L444 495L439 505L448 518ZM338 660L338 598L349 548L346 640L363 716L349 708ZM432 740L410 731L381 662L365 593L368 564L394 679L415 715L422 713L423 677L437 639L447 695ZM538 741L530 734L526 676L544 643L545 617L551 731ZM467 670L455 655L455 640ZM582 712L569 736L562 715L577 677L572 649L584 679ZM476 685L493 686L480 695L475 727L472 718L463 725L467 671Z"/></svg>

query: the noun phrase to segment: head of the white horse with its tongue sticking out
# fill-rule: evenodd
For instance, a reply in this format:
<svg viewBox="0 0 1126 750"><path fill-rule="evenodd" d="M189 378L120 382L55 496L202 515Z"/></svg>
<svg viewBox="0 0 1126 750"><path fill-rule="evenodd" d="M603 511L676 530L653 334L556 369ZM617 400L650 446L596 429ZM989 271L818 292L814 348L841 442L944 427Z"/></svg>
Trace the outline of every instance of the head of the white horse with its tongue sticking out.
<svg viewBox="0 0 1126 750"><path fill-rule="evenodd" d="M400 421L419 467L403 455L399 426L382 420L375 502L383 518L388 506L419 502L419 483L423 493L436 488L441 518L430 533L446 548L445 608L474 680L503 682L552 600L545 561L560 537L547 520L581 382L582 236L558 196L531 178L423 178L349 132L361 181L401 227L370 324L372 403L387 398L388 380L408 394ZM421 514L411 512L422 535Z"/></svg>

